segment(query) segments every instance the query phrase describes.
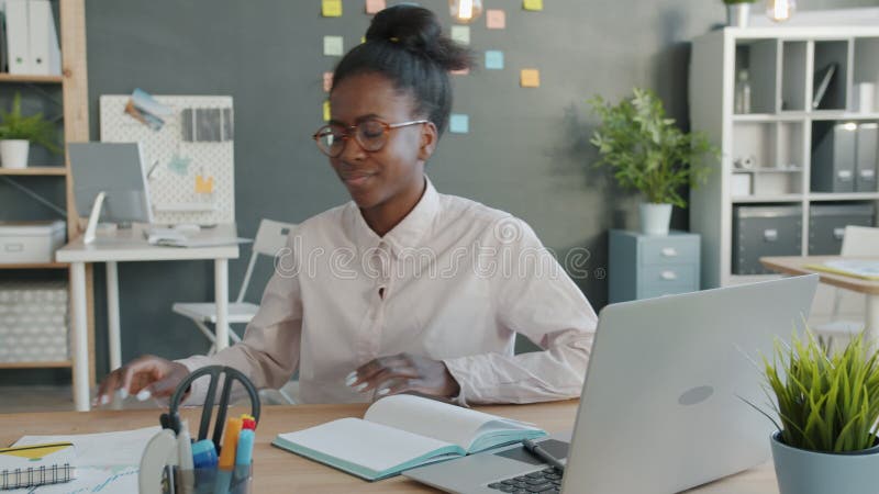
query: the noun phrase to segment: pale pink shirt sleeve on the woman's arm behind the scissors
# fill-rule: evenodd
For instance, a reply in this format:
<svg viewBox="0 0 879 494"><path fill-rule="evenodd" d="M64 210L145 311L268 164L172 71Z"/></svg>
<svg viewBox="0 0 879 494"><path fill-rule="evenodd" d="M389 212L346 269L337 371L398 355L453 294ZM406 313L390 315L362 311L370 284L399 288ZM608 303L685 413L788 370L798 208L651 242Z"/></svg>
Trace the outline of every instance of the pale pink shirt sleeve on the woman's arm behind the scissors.
<svg viewBox="0 0 879 494"><path fill-rule="evenodd" d="M244 338L211 357L178 360L190 372L205 366L229 366L242 371L259 389L280 388L299 364L302 336L302 296L296 231L276 257L275 272L263 293L259 310L247 325ZM192 383L187 403L203 403L208 378Z"/></svg>

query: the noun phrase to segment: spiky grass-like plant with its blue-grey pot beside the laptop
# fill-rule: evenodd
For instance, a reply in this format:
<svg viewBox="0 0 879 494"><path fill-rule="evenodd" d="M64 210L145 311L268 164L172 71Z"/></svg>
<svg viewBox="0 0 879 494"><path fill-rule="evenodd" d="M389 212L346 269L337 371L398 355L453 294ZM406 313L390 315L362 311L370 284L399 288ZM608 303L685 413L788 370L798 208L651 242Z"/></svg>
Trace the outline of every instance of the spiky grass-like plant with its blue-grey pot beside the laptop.
<svg viewBox="0 0 879 494"><path fill-rule="evenodd" d="M764 375L781 422L760 411L778 427L770 441L780 493L879 491L879 352L864 333L831 356L809 332L789 347L777 340Z"/></svg>

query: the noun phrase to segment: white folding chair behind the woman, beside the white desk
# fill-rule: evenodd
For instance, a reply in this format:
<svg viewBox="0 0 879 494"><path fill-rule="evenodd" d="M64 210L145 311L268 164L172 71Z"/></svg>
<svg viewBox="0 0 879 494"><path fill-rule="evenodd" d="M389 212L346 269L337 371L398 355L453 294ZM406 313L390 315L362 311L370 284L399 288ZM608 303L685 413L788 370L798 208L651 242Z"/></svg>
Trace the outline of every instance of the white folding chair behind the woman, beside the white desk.
<svg viewBox="0 0 879 494"><path fill-rule="evenodd" d="M244 301L247 294L247 288L251 283L251 277L256 266L257 257L259 255L269 256L272 260L278 252L287 245L287 236L296 225L291 223L275 222L271 220L263 220L259 222L259 229L256 232L254 239L251 259L247 262L247 271L244 273L244 280L238 289L238 296L234 302L229 304L229 324L247 324L254 318L259 305ZM211 348L208 355L216 351L216 334L208 327L209 324L216 324L216 304L215 303L190 303L190 302L176 302L171 306L171 311L182 316L189 317L199 328L202 335L211 341ZM229 337L234 343L241 341L241 337L230 327ZM294 403L283 390L278 390L281 396L290 404Z"/></svg>

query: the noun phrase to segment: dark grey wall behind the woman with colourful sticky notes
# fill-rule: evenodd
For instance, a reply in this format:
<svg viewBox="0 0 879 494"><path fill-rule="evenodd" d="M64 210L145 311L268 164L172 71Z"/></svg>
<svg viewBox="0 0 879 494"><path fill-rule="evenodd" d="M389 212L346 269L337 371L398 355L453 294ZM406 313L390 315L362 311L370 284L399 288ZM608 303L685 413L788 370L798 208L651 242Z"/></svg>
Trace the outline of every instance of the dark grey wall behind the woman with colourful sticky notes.
<svg viewBox="0 0 879 494"><path fill-rule="evenodd" d="M358 43L369 18L363 0L344 0L342 19L322 19L320 2L255 0L88 0L91 136L98 139L98 97L129 93L231 94L235 99L238 229L249 236L262 217L299 222L347 200L309 138L321 124L322 36ZM390 4L397 3L389 1ZM421 4L447 19L446 0ZM724 21L720 0L548 0L541 13L519 1L486 0L507 10L507 30L472 27L477 61L502 49L505 69L454 77L455 112L470 133L446 134L429 165L437 189L510 211L527 221L560 259L591 252L578 284L598 308L607 283L607 231L634 227L637 198L621 195L591 170L594 125L585 101L617 99L650 87L687 126L688 41ZM867 7L876 0L802 0L801 9ZM541 69L539 89L519 88L518 70ZM0 187L5 187L0 184ZM13 194L0 188L0 206ZM20 201L21 198L15 198ZM5 210L5 209L4 209ZM11 211L11 210L10 210ZM686 228L686 212L674 225ZM248 249L231 265L232 293ZM257 272L258 300L269 267ZM0 272L5 276L5 273ZM107 366L103 269L96 269L98 366ZM179 358L207 349L194 327L170 313L175 301L212 299L209 262L123 263L123 359L144 352ZM8 378L0 374L0 382Z"/></svg>

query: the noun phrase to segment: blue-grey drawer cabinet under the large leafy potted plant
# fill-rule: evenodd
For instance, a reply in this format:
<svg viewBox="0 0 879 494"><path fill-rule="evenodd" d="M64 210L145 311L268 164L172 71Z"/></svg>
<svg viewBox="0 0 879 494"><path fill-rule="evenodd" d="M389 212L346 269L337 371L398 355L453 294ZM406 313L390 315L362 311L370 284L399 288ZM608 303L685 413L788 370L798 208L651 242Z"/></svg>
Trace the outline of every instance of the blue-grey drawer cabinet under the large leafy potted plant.
<svg viewBox="0 0 879 494"><path fill-rule="evenodd" d="M609 301L672 295L699 290L698 234L667 236L612 229L609 239Z"/></svg>

